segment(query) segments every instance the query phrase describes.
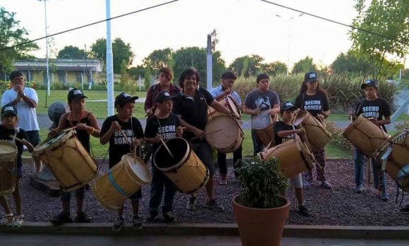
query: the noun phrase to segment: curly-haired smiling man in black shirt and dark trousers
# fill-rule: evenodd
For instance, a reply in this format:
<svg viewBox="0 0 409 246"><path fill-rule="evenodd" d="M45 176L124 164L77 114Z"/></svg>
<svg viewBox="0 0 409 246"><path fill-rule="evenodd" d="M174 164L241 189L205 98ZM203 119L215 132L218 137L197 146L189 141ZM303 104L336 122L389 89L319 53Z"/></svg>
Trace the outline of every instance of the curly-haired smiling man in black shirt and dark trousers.
<svg viewBox="0 0 409 246"><path fill-rule="evenodd" d="M229 116L231 116L231 112L225 106L219 104L206 89L197 87L199 82L200 76L196 69L188 68L183 71L179 78L179 86L182 91L174 98L172 112L181 117L181 125L186 127L183 138L192 143L193 152L209 169L210 177L206 184L207 202L204 206L216 211L223 211L224 207L221 207L214 199L212 147L206 141L204 128L207 124L208 106L212 106L216 111ZM197 138L191 140L194 137ZM194 210L196 208L195 204L196 197L193 195L190 197L186 209Z"/></svg>

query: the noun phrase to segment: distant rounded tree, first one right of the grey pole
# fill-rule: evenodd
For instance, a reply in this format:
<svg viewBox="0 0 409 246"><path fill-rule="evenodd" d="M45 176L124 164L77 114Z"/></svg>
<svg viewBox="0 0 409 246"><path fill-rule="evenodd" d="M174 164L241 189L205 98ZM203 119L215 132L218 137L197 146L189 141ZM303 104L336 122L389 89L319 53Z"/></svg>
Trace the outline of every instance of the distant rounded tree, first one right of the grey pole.
<svg viewBox="0 0 409 246"><path fill-rule="evenodd" d="M247 60L248 66L247 69L245 68L245 61ZM262 67L262 61L264 61L264 58L261 56L252 54L251 56L241 56L236 58L230 66L228 66L229 70L233 70L236 72L236 74L243 74L245 77L248 77L250 75L256 75L257 72L260 71L260 68Z"/></svg>

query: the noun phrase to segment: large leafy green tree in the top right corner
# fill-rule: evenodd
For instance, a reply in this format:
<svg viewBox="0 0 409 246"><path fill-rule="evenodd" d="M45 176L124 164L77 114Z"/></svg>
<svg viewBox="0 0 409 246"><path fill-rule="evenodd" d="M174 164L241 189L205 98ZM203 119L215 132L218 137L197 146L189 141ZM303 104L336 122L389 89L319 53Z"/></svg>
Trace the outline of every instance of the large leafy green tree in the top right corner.
<svg viewBox="0 0 409 246"><path fill-rule="evenodd" d="M365 0L355 2L353 26L361 30L350 32L352 49L370 63L373 80L391 77L409 51L409 1L372 0L367 7Z"/></svg>

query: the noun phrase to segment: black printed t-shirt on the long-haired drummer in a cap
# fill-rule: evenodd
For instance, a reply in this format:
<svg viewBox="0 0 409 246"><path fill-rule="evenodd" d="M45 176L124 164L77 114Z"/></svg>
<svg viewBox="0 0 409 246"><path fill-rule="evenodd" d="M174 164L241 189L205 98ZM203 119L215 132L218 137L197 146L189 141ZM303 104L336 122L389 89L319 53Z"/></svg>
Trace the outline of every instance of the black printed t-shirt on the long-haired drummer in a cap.
<svg viewBox="0 0 409 246"><path fill-rule="evenodd" d="M294 106L303 111L309 111L314 117L317 117L318 113L329 111L328 97L322 92L317 92L315 95L300 93L295 99Z"/></svg>

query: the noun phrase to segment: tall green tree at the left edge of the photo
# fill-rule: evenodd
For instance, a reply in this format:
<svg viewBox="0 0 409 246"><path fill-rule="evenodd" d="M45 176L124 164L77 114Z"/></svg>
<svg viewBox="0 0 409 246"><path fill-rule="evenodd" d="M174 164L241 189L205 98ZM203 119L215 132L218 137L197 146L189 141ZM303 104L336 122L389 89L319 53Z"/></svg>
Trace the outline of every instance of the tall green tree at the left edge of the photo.
<svg viewBox="0 0 409 246"><path fill-rule="evenodd" d="M0 7L0 72L8 73L13 70L13 63L16 59L27 59L32 56L29 51L39 49L37 44L30 42L28 39L28 31L24 27L20 27L20 21L14 16L16 13L6 11L6 8ZM12 47L16 44L22 44L18 47Z"/></svg>

